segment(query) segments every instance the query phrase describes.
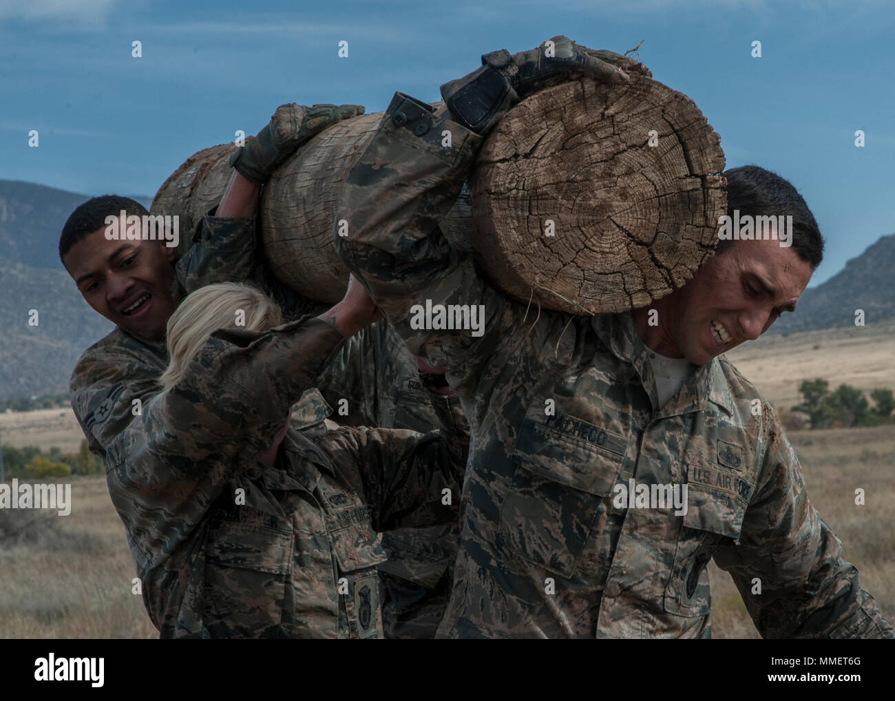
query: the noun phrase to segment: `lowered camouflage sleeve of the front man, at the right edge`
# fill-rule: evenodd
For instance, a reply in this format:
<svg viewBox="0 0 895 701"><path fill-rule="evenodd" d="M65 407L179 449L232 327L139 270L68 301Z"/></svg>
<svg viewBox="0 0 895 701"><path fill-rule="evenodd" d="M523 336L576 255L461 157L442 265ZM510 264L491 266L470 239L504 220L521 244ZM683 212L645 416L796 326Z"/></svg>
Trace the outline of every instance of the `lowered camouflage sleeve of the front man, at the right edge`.
<svg viewBox="0 0 895 701"><path fill-rule="evenodd" d="M808 500L796 452L764 406L770 423L760 482L739 543L723 546L717 564L730 572L763 637L895 637Z"/></svg>

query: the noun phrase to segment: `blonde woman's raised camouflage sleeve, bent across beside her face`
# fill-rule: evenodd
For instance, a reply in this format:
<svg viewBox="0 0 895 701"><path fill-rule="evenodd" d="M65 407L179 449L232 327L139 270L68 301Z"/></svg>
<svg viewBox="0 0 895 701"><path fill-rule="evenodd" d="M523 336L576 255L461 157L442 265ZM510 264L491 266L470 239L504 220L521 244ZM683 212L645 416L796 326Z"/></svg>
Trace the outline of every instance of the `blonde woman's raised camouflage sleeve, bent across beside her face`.
<svg viewBox="0 0 895 701"><path fill-rule="evenodd" d="M147 567L192 535L221 490L266 449L342 337L325 321L258 334L220 329L183 378L107 453L107 481ZM151 561L150 561L151 560Z"/></svg>

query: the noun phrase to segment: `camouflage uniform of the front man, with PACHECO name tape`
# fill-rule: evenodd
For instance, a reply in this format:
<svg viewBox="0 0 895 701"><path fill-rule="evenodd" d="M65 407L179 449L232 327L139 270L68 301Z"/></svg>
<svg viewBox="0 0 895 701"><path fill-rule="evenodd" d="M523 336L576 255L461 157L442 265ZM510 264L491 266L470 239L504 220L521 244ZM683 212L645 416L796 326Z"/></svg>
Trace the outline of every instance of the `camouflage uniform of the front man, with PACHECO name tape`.
<svg viewBox="0 0 895 701"><path fill-rule="evenodd" d="M447 244L439 220L481 141L397 93L342 192L348 236L334 232L411 350L450 366L470 421L439 636L709 637L714 557L763 637L893 637L808 500L773 408L726 358L659 407L630 314L526 309ZM484 334L413 329L426 300L482 304ZM613 487L630 478L686 483L686 515L617 508Z"/></svg>

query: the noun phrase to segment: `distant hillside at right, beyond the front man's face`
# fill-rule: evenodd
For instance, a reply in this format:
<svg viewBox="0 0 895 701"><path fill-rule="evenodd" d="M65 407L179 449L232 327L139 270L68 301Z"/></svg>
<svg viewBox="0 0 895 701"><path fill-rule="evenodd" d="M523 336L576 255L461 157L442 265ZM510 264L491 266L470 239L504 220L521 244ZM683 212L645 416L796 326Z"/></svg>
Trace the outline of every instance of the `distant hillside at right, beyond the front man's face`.
<svg viewBox="0 0 895 701"><path fill-rule="evenodd" d="M895 234L882 236L823 285L805 290L794 314L783 314L769 334L855 325L863 309L865 324L895 319Z"/></svg>

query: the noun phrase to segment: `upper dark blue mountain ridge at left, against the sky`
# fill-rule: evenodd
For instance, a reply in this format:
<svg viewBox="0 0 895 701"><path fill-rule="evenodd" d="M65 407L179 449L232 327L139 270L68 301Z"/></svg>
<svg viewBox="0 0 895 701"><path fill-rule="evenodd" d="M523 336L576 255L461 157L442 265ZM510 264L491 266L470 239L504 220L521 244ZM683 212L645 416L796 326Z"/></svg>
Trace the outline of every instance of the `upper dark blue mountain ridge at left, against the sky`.
<svg viewBox="0 0 895 701"><path fill-rule="evenodd" d="M151 197L127 196L147 209L152 202ZM72 210L90 197L18 180L0 180L0 259L34 268L63 269L59 234Z"/></svg>

